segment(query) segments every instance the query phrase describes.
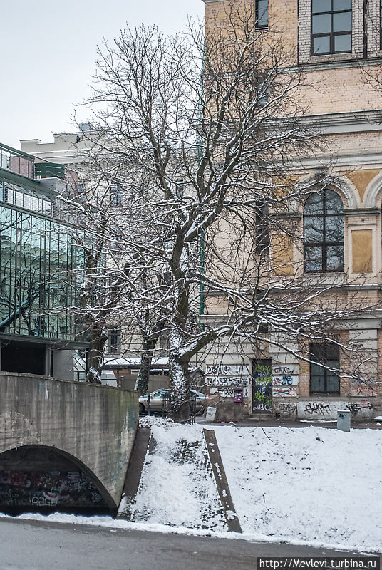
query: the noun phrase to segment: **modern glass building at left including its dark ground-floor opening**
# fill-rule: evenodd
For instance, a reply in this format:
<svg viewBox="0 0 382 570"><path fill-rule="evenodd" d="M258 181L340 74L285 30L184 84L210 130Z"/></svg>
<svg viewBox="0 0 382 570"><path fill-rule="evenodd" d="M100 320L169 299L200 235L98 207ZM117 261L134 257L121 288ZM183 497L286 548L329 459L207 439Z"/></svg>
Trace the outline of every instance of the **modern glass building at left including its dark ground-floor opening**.
<svg viewBox="0 0 382 570"><path fill-rule="evenodd" d="M1 371L73 378L83 266L58 192L63 166L0 145Z"/></svg>

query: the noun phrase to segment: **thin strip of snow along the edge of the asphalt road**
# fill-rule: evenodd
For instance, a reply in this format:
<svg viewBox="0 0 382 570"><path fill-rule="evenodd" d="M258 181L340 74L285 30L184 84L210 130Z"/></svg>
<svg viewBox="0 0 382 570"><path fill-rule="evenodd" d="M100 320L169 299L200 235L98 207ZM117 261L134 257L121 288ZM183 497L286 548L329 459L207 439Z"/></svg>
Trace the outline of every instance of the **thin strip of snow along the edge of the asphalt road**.
<svg viewBox="0 0 382 570"><path fill-rule="evenodd" d="M344 544L328 544L320 541L303 540L283 540L282 537L267 537L264 534L242 534L227 531L211 531L203 529L190 529L187 527L168 527L165 524L145 524L141 522L130 522L123 519L113 519L112 517L82 517L76 514L53 513L48 515L36 513L24 513L18 517L11 517L7 514L0 514L0 519L56 522L60 524L81 524L90 527L103 527L110 530L136 530L148 532L160 532L162 534L185 534L194 537L209 537L216 539L244 540L247 542L267 542L271 544L291 544L293 546L311 546L313 548L326 548L339 551L353 551L362 554L380 554L380 551L364 551L358 546Z"/></svg>

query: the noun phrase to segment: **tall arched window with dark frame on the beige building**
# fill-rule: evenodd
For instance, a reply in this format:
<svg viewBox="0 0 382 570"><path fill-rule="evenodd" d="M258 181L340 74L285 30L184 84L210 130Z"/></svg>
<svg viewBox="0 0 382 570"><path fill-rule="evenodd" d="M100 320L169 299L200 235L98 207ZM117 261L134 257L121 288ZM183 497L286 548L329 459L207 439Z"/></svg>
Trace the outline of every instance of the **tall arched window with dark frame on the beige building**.
<svg viewBox="0 0 382 570"><path fill-rule="evenodd" d="M333 190L305 202L304 264L307 272L344 271L344 204Z"/></svg>

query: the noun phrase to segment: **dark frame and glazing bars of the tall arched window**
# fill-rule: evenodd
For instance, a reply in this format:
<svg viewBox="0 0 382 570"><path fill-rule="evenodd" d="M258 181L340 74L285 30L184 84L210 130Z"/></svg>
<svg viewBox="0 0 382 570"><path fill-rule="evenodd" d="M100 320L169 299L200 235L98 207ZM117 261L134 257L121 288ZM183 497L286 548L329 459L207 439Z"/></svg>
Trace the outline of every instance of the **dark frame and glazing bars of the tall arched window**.
<svg viewBox="0 0 382 570"><path fill-rule="evenodd" d="M328 214L326 213L326 196L327 196L327 192L333 192L334 194L336 194L339 197L339 200L341 200L341 204L343 206L342 208L342 212L341 214L338 213L334 213L334 214ZM323 197L323 208L322 208L322 214L306 214L305 210L306 210L306 204L309 200L309 198L314 195L314 194L321 194ZM312 192L312 194L309 196L309 198L306 200L305 202L305 206L304 206L304 273L338 273L338 272L342 272L344 271L344 204L342 202L341 196L335 192L334 190L331 189L325 189L325 190L321 190L321 192ZM305 226L305 220L306 219L317 219L317 218L322 218L322 241L321 242L309 242L305 239L305 232L306 232L306 226ZM334 217L342 217L343 219L343 232L342 232L342 240L341 242L334 242L334 241L329 241L328 239L326 239L326 219L327 218L334 218ZM306 254L306 250L309 247L321 247L321 268L319 269L307 269L306 265L307 265L307 254ZM328 248L329 247L341 247L342 248L342 257L341 257L341 265L336 267L336 269L328 269Z"/></svg>

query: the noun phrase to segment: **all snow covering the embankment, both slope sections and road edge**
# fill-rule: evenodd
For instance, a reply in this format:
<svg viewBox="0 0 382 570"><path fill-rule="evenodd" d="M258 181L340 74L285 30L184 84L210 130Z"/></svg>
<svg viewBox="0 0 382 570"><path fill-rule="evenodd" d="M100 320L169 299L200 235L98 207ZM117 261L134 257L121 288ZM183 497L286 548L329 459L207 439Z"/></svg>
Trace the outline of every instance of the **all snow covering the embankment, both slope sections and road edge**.
<svg viewBox="0 0 382 570"><path fill-rule="evenodd" d="M155 450L146 456L135 503L123 501L120 509L135 522L59 513L19 518L382 552L380 430L214 425L242 525L237 534L227 532L204 426L143 422L152 427Z"/></svg>

